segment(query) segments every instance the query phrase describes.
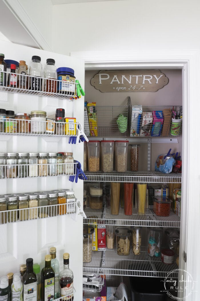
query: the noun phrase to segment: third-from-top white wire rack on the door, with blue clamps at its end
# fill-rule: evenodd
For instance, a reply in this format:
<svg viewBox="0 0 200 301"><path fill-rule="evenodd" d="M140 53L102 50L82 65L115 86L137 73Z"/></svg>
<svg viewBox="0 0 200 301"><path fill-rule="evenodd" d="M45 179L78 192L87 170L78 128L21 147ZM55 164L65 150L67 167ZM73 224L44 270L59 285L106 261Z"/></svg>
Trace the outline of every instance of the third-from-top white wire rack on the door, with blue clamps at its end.
<svg viewBox="0 0 200 301"><path fill-rule="evenodd" d="M76 175L75 163L0 165L0 180Z"/></svg>

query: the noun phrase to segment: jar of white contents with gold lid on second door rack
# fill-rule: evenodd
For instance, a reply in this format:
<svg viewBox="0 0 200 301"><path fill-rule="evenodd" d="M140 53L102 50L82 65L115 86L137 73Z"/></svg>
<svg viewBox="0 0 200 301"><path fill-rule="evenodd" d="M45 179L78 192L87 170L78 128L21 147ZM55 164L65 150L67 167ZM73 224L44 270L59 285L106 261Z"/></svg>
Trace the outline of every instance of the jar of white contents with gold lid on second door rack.
<svg viewBox="0 0 200 301"><path fill-rule="evenodd" d="M46 112L31 111L31 134L45 134Z"/></svg>

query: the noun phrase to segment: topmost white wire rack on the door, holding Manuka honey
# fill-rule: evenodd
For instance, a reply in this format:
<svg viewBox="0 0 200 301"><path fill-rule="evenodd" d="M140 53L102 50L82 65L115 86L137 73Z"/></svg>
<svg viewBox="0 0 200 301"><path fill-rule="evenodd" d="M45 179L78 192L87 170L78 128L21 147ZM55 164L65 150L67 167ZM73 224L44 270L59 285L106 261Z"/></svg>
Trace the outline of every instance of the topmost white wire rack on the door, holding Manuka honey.
<svg viewBox="0 0 200 301"><path fill-rule="evenodd" d="M17 85L15 85L12 82L7 82L9 74L12 73L0 72L0 77L3 79L2 85L0 85L0 91L2 92L48 96L60 99L74 99L76 97L75 82L67 82L68 87L66 89L64 85L62 85L61 80L16 74L19 84L17 83ZM22 82L22 84L20 84L20 82Z"/></svg>

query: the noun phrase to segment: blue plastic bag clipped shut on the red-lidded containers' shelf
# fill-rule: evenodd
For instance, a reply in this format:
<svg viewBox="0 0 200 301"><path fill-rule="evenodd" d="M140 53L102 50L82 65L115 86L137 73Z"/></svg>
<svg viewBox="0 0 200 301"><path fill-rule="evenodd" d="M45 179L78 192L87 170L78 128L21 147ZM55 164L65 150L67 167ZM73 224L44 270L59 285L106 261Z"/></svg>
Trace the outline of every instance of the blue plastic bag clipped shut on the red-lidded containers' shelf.
<svg viewBox="0 0 200 301"><path fill-rule="evenodd" d="M161 154L157 157L155 163L155 171L160 171L163 173L172 172L173 165L175 165L176 160L172 157L174 154L170 154L171 148L167 154Z"/></svg>

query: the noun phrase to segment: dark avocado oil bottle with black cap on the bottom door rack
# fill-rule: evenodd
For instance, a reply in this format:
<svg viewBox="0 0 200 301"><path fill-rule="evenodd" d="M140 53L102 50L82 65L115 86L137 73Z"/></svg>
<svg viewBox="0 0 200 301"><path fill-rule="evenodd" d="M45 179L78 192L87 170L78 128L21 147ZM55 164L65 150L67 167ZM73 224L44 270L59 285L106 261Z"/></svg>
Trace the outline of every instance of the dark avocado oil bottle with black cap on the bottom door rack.
<svg viewBox="0 0 200 301"><path fill-rule="evenodd" d="M23 300L37 301L37 277L33 272L33 259L26 259L26 272L23 275Z"/></svg>

